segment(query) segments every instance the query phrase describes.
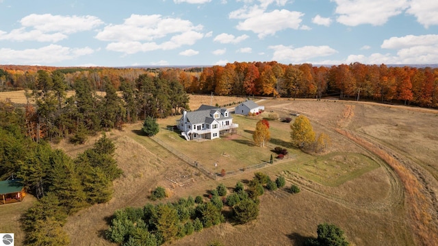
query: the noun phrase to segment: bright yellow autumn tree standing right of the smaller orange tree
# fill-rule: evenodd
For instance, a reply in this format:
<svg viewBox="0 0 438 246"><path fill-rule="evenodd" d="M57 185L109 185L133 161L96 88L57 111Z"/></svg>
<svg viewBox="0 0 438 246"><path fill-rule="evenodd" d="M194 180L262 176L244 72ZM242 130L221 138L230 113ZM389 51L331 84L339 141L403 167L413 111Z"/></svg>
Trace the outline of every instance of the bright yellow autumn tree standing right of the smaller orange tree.
<svg viewBox="0 0 438 246"><path fill-rule="evenodd" d="M294 123L290 125L290 130L292 144L300 149L305 149L315 142L313 127L304 115L300 115L295 119Z"/></svg>

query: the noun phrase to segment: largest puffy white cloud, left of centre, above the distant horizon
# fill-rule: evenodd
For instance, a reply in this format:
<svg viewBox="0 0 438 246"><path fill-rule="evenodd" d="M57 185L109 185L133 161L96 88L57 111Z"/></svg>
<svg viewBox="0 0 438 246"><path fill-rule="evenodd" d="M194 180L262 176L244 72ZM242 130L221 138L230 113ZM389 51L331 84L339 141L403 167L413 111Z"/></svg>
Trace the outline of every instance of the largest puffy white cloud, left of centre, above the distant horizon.
<svg viewBox="0 0 438 246"><path fill-rule="evenodd" d="M107 45L108 50L132 54L194 45L197 40L205 37L199 32L202 29L202 25L195 26L179 18L164 18L159 14L132 14L123 24L107 25L95 38L112 41ZM162 43L155 42L166 38L168 40Z"/></svg>

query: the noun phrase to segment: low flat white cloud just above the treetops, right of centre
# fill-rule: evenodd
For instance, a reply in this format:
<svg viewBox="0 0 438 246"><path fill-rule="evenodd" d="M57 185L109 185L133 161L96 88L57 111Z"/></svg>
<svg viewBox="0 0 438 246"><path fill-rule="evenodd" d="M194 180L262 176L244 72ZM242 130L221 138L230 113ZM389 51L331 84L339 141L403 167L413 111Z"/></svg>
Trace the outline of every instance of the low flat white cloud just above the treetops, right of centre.
<svg viewBox="0 0 438 246"><path fill-rule="evenodd" d="M272 60L287 63L308 62L311 58L318 58L322 56L331 56L337 53L335 49L329 46L305 46L294 49L284 45L274 45L268 47L274 50Z"/></svg>

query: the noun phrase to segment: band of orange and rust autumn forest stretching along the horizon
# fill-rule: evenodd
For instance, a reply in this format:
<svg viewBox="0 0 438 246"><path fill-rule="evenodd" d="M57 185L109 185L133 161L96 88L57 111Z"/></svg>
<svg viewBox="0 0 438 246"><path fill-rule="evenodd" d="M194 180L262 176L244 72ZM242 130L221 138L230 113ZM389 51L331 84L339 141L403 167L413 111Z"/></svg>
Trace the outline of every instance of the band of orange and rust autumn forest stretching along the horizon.
<svg viewBox="0 0 438 246"><path fill-rule="evenodd" d="M192 69L0 66L0 88L33 88L39 70L47 71L49 74L55 71L62 73L66 89L73 89L77 79L83 79L90 84L92 90L105 90L108 81L116 90L125 88L124 83L140 90L138 79L140 75L147 75L146 77L159 77L169 83L179 82L187 93L299 98L341 97L383 102L400 101L415 106L438 107L437 68L365 65L359 62L336 66L234 62L225 66ZM172 88L171 84L168 85Z"/></svg>

